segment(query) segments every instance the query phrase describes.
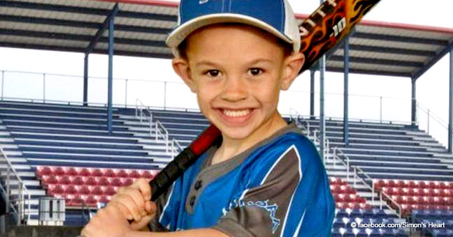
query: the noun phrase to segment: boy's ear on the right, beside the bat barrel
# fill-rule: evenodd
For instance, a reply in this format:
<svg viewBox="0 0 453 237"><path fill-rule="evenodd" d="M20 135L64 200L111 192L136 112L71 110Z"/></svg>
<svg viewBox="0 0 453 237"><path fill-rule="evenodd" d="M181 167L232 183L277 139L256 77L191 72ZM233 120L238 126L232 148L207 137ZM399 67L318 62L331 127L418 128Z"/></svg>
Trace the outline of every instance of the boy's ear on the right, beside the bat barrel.
<svg viewBox="0 0 453 237"><path fill-rule="evenodd" d="M305 63L305 55L298 52L287 56L284 61L284 75L282 78L281 88L286 91L293 83L295 77L298 77L299 71Z"/></svg>

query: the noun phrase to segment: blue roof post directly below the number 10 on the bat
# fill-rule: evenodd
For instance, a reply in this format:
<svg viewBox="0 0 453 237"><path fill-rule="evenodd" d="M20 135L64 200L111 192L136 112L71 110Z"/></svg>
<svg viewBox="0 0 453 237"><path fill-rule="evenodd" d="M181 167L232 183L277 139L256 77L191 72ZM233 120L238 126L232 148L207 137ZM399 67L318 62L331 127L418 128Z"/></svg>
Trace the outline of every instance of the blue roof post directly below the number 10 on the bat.
<svg viewBox="0 0 453 237"><path fill-rule="evenodd" d="M344 100L343 100L343 135L345 146L349 145L349 36L346 36L344 40Z"/></svg>

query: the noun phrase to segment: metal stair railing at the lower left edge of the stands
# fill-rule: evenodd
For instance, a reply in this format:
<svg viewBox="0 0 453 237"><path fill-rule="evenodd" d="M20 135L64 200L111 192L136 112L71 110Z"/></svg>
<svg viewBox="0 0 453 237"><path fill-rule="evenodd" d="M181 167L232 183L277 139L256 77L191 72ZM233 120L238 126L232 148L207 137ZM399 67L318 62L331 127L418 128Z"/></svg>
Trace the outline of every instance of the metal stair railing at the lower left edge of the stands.
<svg viewBox="0 0 453 237"><path fill-rule="evenodd" d="M18 215L17 224L30 222L31 217L31 194L26 189L24 182L20 178L17 171L6 155L3 147L0 144L0 159L1 159L1 178L6 187L6 213L10 213L10 208L13 207ZM17 193L13 194L13 190Z"/></svg>

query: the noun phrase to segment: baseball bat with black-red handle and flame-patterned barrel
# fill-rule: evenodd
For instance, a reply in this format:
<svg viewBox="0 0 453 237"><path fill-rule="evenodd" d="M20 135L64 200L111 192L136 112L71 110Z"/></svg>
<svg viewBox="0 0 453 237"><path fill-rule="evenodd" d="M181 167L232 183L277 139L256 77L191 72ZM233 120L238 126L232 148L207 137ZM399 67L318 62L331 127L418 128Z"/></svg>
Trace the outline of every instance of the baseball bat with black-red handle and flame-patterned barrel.
<svg viewBox="0 0 453 237"><path fill-rule="evenodd" d="M300 52L305 63L299 73L307 70L330 49L335 48L351 29L380 0L328 0L299 26ZM197 139L179 153L167 167L149 182L151 201L158 199L184 171L220 138L220 130L210 125Z"/></svg>

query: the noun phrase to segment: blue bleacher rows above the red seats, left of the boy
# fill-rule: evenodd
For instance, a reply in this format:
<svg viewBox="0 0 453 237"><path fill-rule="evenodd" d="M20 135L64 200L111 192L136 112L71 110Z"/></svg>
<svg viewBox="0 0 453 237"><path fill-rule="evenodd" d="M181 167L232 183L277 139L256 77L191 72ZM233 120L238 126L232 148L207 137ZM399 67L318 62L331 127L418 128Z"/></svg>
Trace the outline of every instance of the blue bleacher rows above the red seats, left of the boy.
<svg viewBox="0 0 453 237"><path fill-rule="evenodd" d="M117 109L109 134L105 107L0 101L1 145L31 192L35 219L38 199L46 195L38 166L159 170L171 160L163 139L133 128L118 119Z"/></svg>

